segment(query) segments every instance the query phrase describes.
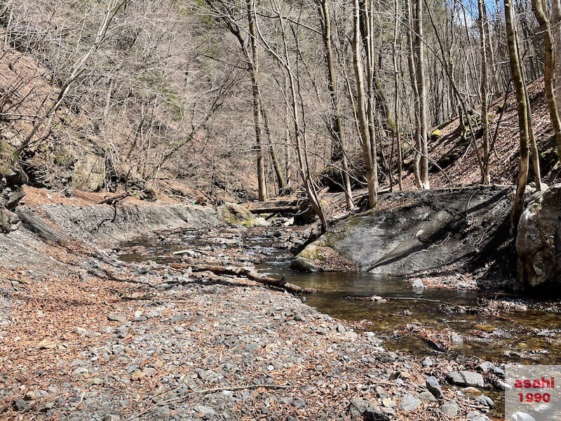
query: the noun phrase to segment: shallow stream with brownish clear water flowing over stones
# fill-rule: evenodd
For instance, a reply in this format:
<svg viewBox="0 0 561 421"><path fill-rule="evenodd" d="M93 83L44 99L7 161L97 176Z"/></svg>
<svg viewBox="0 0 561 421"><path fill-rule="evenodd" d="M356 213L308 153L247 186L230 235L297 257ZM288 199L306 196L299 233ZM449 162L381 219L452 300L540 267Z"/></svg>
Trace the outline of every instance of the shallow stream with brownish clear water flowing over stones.
<svg viewBox="0 0 561 421"><path fill-rule="evenodd" d="M447 343L450 356L471 355L499 363L561 363L558 300L529 300L477 290L423 290L412 288L405 279L363 273L299 273L290 269L292 253L288 248L293 240L292 229L284 227L185 229L156 240L123 243L119 253L127 261L255 265L262 273L317 288L317 293L306 296L307 304L337 319L366 321L367 330L383 338L388 349L419 356L435 354L434 343L416 334L421 328ZM374 295L387 301L370 300ZM349 299L357 297L363 299ZM513 300L518 310L460 314L442 309L440 303L479 307L494 298ZM523 307L527 309L521 311Z"/></svg>

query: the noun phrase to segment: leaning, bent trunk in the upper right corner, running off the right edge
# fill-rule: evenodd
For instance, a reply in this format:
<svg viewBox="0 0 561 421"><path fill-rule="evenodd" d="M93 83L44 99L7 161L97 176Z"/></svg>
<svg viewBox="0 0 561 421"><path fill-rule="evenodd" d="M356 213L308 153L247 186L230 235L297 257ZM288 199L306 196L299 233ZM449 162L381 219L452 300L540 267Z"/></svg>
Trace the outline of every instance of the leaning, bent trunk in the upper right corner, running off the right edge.
<svg viewBox="0 0 561 421"><path fill-rule="evenodd" d="M559 0L553 0L553 2L555 1ZM548 99L549 118L555 135L557 155L561 159L561 120L559 116L559 109L557 109L557 102L555 101L555 78L559 79L560 74L555 74L555 63L553 60L553 33L551 32L551 25L549 23L549 18L546 15L544 6L543 0L532 0L534 15L536 16L536 20L539 22L539 27L543 36L543 79L546 87L546 97Z"/></svg>

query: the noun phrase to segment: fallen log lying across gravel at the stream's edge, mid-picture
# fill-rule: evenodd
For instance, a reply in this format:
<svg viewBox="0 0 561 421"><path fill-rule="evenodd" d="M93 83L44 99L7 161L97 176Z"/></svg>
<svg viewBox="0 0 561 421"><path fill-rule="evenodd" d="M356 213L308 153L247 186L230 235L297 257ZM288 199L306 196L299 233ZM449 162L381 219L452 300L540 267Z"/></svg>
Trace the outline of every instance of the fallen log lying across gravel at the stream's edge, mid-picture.
<svg viewBox="0 0 561 421"><path fill-rule="evenodd" d="M260 274L254 269L249 267L236 267L236 266L215 266L215 265L187 265L184 263L170 263L169 267L172 269L188 269L189 267L193 272L212 272L217 275L234 275L243 276L245 278L251 279L252 281L263 283L266 286L273 286L275 288L281 288L287 290L289 293L297 294L311 294L316 292L314 288L302 288L294 283L288 283L283 276L281 279L273 278L271 276L266 276Z"/></svg>

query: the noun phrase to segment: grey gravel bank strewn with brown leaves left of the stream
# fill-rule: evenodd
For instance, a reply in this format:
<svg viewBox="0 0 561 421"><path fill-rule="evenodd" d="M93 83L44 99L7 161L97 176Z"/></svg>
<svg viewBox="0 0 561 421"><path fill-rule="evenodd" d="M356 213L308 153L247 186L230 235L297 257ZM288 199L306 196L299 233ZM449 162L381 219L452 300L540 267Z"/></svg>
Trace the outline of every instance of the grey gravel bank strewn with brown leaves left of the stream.
<svg viewBox="0 0 561 421"><path fill-rule="evenodd" d="M486 419L488 401L445 385L466 365L388 352L243 278L123 262L112 248L216 226L212 209L133 205L103 222L113 207L27 206L22 229L0 236L1 418ZM500 384L487 371L464 386Z"/></svg>

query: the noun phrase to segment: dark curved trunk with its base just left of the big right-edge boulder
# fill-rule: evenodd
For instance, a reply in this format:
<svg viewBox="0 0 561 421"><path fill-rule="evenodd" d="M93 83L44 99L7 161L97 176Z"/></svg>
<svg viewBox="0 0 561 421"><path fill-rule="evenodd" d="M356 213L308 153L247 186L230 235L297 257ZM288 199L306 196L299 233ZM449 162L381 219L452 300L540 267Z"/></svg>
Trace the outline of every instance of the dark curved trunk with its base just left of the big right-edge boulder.
<svg viewBox="0 0 561 421"><path fill-rule="evenodd" d="M518 102L518 126L520 128L520 161L518 168L518 186L513 203L511 214L511 236L516 237L518 232L518 221L524 210L524 193L528 181L528 152L529 152L529 126L528 126L528 107L527 95L522 78L522 67L520 65L520 55L518 53L518 41L515 29L515 17L513 0L504 0L504 14L506 21L506 39L508 42L508 57L511 65L511 74L516 99Z"/></svg>

